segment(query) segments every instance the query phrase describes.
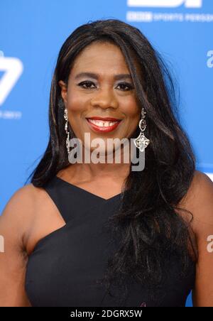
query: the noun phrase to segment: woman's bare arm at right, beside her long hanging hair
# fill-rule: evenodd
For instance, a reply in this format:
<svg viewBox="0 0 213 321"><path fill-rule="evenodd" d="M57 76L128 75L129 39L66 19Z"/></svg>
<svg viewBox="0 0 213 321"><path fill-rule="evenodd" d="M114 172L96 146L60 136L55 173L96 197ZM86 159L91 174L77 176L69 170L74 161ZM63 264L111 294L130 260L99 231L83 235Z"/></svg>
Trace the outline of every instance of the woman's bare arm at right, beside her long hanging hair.
<svg viewBox="0 0 213 321"><path fill-rule="evenodd" d="M197 239L198 261L192 301L195 307L213 307L213 183L196 170L185 200L193 214L192 229Z"/></svg>

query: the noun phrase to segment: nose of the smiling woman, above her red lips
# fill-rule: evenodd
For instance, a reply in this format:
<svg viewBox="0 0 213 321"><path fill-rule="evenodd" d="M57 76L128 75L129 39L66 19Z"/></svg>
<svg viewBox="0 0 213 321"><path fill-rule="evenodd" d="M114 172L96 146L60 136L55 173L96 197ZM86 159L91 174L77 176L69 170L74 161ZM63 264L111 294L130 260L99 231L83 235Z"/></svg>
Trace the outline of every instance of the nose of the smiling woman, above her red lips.
<svg viewBox="0 0 213 321"><path fill-rule="evenodd" d="M119 105L113 89L109 88L99 89L99 91L94 94L94 97L92 97L91 104L93 107L101 107L104 109L109 107L117 108Z"/></svg>

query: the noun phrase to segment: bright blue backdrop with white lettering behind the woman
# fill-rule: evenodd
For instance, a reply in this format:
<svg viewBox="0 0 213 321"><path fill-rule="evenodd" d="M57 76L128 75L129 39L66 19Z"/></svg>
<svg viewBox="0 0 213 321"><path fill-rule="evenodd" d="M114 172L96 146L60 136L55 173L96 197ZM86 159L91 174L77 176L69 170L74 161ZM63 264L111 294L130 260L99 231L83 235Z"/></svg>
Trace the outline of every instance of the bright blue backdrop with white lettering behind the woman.
<svg viewBox="0 0 213 321"><path fill-rule="evenodd" d="M100 18L139 28L170 65L197 170L213 180L212 0L1 0L0 212L48 143L50 81L62 43Z"/></svg>

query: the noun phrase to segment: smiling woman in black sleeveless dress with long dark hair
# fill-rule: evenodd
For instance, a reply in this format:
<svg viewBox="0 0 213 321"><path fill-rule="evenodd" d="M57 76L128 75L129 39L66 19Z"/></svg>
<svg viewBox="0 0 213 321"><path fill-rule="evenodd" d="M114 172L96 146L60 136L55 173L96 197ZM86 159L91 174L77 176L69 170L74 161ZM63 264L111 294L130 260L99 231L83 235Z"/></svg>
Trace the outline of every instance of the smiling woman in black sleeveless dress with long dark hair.
<svg viewBox="0 0 213 321"><path fill-rule="evenodd" d="M173 81L141 31L118 20L77 28L58 56L49 116L31 183L1 215L0 305L184 306L190 290L195 306L213 305L213 184L195 170ZM117 163L72 162L72 138L95 151L84 134L133 139L143 170L124 148Z"/></svg>

